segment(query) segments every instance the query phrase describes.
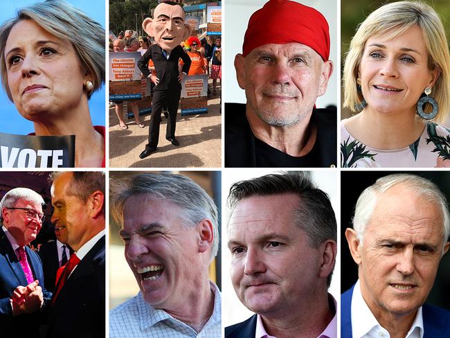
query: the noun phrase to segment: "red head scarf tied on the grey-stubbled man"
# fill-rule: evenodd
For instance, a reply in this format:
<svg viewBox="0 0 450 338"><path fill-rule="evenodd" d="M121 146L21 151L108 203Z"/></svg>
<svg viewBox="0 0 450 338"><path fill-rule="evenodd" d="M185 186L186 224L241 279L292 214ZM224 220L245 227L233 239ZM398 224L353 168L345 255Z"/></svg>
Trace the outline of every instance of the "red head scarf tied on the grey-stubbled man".
<svg viewBox="0 0 450 338"><path fill-rule="evenodd" d="M314 8L289 0L269 0L253 13L245 32L242 54L264 44L298 42L311 47L324 61L330 56L325 17Z"/></svg>

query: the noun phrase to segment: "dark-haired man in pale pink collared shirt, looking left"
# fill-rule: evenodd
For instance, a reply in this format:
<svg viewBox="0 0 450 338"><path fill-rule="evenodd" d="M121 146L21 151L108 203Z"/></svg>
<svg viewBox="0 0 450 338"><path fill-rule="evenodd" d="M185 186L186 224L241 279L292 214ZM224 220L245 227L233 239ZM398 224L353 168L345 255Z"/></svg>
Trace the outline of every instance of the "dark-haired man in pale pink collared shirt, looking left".
<svg viewBox="0 0 450 338"><path fill-rule="evenodd" d="M336 217L326 193L301 172L231 187L231 281L256 314L225 328L226 338L336 338L328 294L336 259Z"/></svg>

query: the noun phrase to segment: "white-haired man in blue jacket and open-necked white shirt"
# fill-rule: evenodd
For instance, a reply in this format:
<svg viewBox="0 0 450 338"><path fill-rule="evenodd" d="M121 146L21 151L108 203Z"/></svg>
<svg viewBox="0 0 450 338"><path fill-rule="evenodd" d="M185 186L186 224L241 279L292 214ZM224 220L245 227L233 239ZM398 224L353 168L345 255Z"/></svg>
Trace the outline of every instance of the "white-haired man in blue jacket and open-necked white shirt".
<svg viewBox="0 0 450 338"><path fill-rule="evenodd" d="M394 174L366 188L345 231L358 280L341 296L341 337L450 337L450 312L424 304L449 234L447 200L428 179Z"/></svg>

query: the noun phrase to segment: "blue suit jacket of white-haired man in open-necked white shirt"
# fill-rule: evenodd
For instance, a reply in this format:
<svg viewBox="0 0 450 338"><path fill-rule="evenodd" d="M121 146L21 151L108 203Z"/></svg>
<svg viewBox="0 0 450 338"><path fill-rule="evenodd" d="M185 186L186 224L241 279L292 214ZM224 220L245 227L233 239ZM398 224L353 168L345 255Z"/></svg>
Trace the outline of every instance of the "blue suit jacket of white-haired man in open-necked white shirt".
<svg viewBox="0 0 450 338"><path fill-rule="evenodd" d="M351 304L353 288L341 294L341 338L352 338ZM450 312L432 305L422 305L424 338L450 337ZM357 338L357 337L355 337Z"/></svg>

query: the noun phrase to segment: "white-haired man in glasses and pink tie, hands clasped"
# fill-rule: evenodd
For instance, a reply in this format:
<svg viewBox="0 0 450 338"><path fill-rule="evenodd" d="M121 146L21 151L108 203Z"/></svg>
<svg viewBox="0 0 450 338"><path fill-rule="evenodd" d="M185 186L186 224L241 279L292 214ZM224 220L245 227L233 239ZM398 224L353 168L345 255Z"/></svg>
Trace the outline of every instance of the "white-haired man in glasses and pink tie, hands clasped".
<svg viewBox="0 0 450 338"><path fill-rule="evenodd" d="M51 298L42 263L28 244L36 239L44 214L41 195L14 188L0 202L0 328L39 337L39 309Z"/></svg>

